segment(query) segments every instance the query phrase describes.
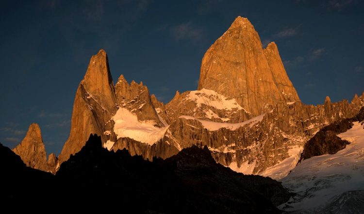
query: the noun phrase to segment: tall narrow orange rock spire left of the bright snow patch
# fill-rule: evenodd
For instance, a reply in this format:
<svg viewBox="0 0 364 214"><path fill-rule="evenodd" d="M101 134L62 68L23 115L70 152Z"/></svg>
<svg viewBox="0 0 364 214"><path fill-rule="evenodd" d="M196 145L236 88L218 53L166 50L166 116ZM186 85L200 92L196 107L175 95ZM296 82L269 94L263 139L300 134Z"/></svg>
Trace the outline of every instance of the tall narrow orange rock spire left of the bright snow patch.
<svg viewBox="0 0 364 214"><path fill-rule="evenodd" d="M112 115L116 112L116 95L108 58L104 50L91 57L73 104L71 130L58 161L68 160L80 151L91 133L107 142L113 135Z"/></svg>

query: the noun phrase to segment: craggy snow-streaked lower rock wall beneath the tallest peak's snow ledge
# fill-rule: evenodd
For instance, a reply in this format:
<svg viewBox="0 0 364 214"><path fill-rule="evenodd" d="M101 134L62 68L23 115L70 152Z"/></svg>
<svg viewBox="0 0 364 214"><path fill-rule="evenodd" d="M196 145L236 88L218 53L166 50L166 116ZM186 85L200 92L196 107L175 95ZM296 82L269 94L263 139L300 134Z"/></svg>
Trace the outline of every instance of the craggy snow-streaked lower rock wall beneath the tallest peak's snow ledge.
<svg viewBox="0 0 364 214"><path fill-rule="evenodd" d="M238 172L281 178L295 167L305 142L320 128L353 117L355 109L347 101L319 106L281 103L270 112L237 124L181 116L168 131L182 148L207 145L217 162ZM270 168L283 160L287 164L284 167Z"/></svg>

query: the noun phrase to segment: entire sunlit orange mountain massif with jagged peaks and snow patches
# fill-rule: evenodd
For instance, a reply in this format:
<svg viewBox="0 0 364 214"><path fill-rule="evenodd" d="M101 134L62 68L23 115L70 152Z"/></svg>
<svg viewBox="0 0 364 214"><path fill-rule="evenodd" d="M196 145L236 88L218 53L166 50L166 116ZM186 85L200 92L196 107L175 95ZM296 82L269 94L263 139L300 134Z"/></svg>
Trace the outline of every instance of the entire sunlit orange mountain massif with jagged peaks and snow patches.
<svg viewBox="0 0 364 214"><path fill-rule="evenodd" d="M126 148L149 160L169 158L193 145L207 146L216 162L236 172L283 178L283 185L293 188L287 179L312 161L302 160L296 167L305 143L321 128L353 118L362 106L364 93L350 103L332 103L329 97L323 105L301 103L277 45L262 48L253 25L238 17L204 55L198 90L177 91L166 105L142 82L128 83L123 75L114 86L107 55L100 50L91 57L77 89L70 135L59 157L50 155L47 162L37 125L30 131L39 134L28 131L13 151L28 166L54 173L82 149L91 133L110 151Z"/></svg>

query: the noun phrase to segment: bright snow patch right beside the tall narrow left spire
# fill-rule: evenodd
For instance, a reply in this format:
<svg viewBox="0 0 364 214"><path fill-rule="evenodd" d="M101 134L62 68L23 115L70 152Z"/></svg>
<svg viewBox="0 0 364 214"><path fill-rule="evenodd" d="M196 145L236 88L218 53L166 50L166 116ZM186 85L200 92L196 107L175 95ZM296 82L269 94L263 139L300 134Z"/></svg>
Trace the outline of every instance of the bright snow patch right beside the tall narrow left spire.
<svg viewBox="0 0 364 214"><path fill-rule="evenodd" d="M149 145L162 139L169 127L156 127L155 121L139 121L127 108L119 108L112 119L115 121L114 132L117 139L128 137Z"/></svg>

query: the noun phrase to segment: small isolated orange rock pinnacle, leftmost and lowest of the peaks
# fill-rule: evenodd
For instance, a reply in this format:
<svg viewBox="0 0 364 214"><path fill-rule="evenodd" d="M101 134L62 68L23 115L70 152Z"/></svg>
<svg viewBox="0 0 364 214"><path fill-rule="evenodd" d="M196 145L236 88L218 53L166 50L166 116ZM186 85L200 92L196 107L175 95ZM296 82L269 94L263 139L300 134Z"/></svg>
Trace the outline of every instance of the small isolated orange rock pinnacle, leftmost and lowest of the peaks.
<svg viewBox="0 0 364 214"><path fill-rule="evenodd" d="M38 124L31 124L25 138L13 149L21 160L34 169L49 171L46 148Z"/></svg>

